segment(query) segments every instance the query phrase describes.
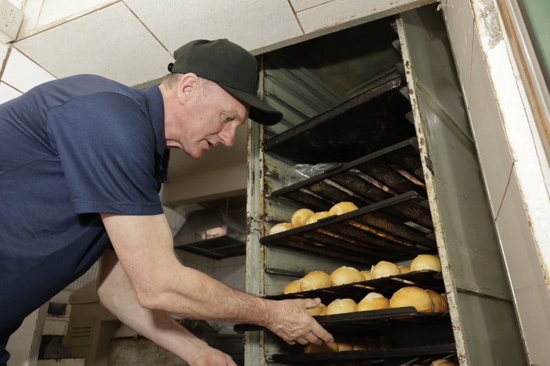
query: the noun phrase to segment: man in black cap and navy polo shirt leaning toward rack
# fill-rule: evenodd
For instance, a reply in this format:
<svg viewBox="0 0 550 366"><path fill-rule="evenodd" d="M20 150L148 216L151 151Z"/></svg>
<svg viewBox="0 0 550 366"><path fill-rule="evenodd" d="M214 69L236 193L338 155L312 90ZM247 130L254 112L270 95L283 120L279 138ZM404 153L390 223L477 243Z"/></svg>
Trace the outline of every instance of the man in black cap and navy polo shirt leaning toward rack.
<svg viewBox="0 0 550 366"><path fill-rule="evenodd" d="M165 148L198 159L231 146L248 117L282 115L256 98L255 58L227 40L180 47L168 70L144 91L74 76L0 105L0 365L23 318L100 257L102 304L190 365L235 363L168 313L263 325L291 344L333 340L307 312L319 299L261 299L178 262L158 197Z"/></svg>

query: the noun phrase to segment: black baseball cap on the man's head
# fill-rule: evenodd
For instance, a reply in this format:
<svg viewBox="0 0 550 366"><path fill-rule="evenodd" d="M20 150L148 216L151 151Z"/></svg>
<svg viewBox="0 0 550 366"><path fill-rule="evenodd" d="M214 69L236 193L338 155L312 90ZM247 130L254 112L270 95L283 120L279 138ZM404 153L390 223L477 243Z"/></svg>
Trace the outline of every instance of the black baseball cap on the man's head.
<svg viewBox="0 0 550 366"><path fill-rule="evenodd" d="M199 39L179 47L174 58L168 71L191 72L212 80L234 98L250 104L248 117L253 121L271 126L283 118L283 113L258 98L258 62L243 47L227 39Z"/></svg>

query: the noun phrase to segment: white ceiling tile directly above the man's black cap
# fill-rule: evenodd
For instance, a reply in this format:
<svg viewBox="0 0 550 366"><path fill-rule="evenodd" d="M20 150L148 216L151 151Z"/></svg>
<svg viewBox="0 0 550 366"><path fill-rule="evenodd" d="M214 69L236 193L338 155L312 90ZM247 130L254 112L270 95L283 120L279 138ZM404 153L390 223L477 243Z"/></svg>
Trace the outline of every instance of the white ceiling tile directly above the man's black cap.
<svg viewBox="0 0 550 366"><path fill-rule="evenodd" d="M170 52L198 38L228 38L253 50L302 35L287 1L124 2Z"/></svg>

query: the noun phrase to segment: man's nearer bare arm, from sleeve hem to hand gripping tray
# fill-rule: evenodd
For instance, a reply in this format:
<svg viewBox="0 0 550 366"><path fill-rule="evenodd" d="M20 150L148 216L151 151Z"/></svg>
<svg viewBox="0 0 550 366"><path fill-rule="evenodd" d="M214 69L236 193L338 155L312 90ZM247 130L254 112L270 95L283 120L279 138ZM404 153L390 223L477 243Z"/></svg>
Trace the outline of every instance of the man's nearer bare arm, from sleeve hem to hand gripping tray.
<svg viewBox="0 0 550 366"><path fill-rule="evenodd" d="M262 325L290 344L333 340L307 312L319 299L261 299L182 266L163 214L102 214L102 219L140 306L197 319Z"/></svg>

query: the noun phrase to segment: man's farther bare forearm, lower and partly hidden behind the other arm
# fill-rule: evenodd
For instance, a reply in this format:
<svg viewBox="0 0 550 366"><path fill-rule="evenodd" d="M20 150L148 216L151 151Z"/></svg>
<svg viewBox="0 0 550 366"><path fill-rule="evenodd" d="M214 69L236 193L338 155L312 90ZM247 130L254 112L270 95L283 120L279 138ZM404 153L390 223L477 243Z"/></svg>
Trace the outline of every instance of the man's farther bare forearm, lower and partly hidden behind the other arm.
<svg viewBox="0 0 550 366"><path fill-rule="evenodd" d="M100 259L98 295L101 304L122 323L189 365L236 366L230 356L210 347L160 310L142 308L116 254L105 251Z"/></svg>

